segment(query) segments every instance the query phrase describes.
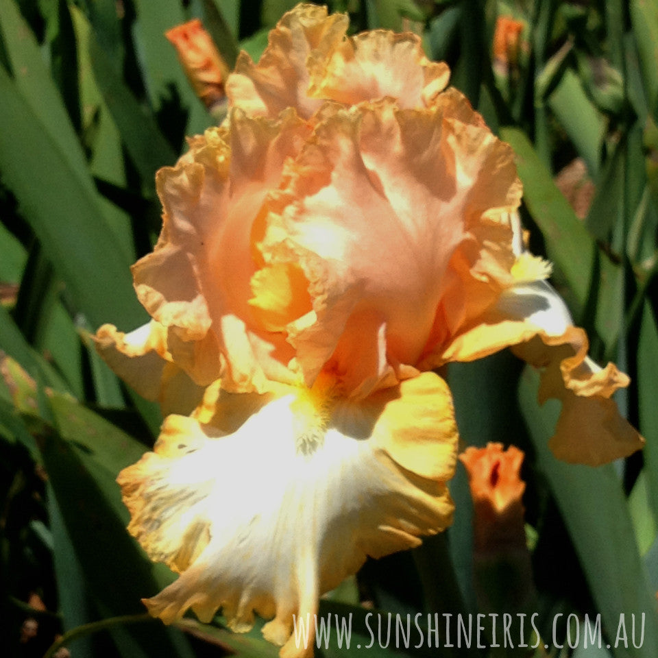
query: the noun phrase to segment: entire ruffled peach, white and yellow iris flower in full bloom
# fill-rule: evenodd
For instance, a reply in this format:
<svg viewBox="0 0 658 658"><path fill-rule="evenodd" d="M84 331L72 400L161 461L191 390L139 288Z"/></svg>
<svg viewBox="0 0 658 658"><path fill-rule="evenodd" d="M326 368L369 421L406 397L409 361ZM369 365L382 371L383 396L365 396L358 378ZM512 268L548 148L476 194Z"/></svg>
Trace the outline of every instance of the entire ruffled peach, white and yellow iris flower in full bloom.
<svg viewBox="0 0 658 658"><path fill-rule="evenodd" d="M228 119L158 172L163 226L133 267L152 317L101 354L175 412L121 473L130 531L181 576L169 622L254 611L268 639L367 555L448 524L450 391L432 370L513 346L563 413L552 448L602 463L641 446L610 397L628 379L524 248L510 147L419 38L348 38L300 5L226 82Z"/></svg>

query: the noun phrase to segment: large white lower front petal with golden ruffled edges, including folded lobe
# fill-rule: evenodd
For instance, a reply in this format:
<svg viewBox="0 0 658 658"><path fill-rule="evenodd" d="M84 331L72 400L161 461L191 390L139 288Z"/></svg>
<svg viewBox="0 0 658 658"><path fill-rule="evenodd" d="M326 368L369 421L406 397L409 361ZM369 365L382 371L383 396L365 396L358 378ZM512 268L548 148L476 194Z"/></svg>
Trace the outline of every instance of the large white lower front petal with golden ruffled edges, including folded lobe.
<svg viewBox="0 0 658 658"><path fill-rule="evenodd" d="M130 532L181 575L145 600L164 622L219 608L234 631L254 612L281 655L298 646L293 615L366 557L419 546L452 523L447 481L457 432L446 383L433 373L367 400L281 385L269 395L209 387L192 417L170 415L154 452L119 475ZM312 624L313 622L311 622Z"/></svg>

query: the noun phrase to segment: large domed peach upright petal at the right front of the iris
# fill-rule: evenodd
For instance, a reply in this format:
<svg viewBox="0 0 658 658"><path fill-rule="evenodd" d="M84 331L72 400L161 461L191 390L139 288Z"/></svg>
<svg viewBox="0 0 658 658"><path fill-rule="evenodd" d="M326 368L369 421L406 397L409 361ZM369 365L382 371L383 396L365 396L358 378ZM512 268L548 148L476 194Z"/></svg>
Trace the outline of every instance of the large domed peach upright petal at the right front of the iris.
<svg viewBox="0 0 658 658"><path fill-rule="evenodd" d="M288 326L307 382L326 364L367 395L416 365L456 249L487 290L511 280L512 153L451 97L425 110L325 108L289 185L273 195L261 248L268 263L299 263L309 281L313 313ZM462 114L472 123L454 118ZM359 349L367 354L356 363Z"/></svg>

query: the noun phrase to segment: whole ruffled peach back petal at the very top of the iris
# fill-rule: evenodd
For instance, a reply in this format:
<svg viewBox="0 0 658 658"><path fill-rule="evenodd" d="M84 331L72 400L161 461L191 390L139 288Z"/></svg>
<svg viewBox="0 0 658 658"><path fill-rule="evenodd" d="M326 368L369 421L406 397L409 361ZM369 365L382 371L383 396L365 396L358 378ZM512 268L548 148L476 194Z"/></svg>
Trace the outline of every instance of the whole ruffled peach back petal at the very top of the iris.
<svg viewBox="0 0 658 658"><path fill-rule="evenodd" d="M232 105L276 117L286 107L310 117L323 101L356 105L385 97L401 108L430 106L450 69L430 62L415 34L385 30L346 38L348 18L297 5L269 34L258 64L241 53L227 84Z"/></svg>

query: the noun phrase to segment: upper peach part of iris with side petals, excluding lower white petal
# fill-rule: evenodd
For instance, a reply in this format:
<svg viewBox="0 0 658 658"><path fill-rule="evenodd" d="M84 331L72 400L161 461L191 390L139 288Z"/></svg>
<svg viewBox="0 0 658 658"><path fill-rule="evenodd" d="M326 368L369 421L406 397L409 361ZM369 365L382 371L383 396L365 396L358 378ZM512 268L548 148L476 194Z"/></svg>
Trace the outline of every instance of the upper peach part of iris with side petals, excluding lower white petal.
<svg viewBox="0 0 658 658"><path fill-rule="evenodd" d="M511 148L445 88L447 66L417 36L347 27L300 5L258 64L241 53L230 120L158 172L162 234L133 267L154 321L103 326L101 352L188 413L218 378L264 393L325 372L365 398L517 345L546 369L542 398L581 419L559 424L561 459L636 450L609 400L628 378L586 357L549 265L524 249Z"/></svg>

